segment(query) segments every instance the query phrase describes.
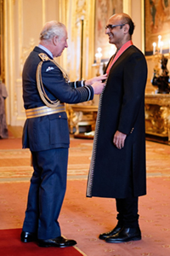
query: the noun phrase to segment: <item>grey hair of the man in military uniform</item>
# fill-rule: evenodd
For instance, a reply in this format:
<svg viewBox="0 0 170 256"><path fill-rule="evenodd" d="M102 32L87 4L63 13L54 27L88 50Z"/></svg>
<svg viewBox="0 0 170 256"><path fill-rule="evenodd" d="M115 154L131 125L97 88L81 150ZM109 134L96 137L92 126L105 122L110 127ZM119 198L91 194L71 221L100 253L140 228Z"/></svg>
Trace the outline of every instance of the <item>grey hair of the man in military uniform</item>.
<svg viewBox="0 0 170 256"><path fill-rule="evenodd" d="M50 40L54 36L61 38L65 31L65 25L59 21L52 20L43 26L42 32L40 33L40 40Z"/></svg>

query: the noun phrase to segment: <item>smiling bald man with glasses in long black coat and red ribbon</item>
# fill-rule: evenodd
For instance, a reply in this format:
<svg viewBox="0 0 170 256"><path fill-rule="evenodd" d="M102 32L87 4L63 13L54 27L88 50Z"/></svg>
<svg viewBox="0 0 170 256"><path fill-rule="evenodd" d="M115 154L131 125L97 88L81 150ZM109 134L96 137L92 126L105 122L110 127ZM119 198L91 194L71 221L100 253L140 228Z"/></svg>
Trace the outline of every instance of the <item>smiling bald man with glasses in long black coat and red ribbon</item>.
<svg viewBox="0 0 170 256"><path fill-rule="evenodd" d="M116 198L118 223L99 236L107 242L141 239L138 199L146 194L147 66L131 41L133 29L133 20L126 14L111 16L105 27L117 51L106 67L108 79L100 96L87 196Z"/></svg>

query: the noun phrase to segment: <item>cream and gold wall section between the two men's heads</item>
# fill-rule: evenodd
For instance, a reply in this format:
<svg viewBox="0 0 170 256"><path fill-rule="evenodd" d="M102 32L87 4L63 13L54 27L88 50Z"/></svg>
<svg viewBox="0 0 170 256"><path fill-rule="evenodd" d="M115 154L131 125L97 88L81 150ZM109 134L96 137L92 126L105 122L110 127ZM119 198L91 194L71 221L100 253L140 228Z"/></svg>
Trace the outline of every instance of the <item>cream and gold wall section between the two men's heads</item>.
<svg viewBox="0 0 170 256"><path fill-rule="evenodd" d="M67 0L66 14L67 71L71 80L81 79L81 70L82 78L88 79L94 62L94 0Z"/></svg>

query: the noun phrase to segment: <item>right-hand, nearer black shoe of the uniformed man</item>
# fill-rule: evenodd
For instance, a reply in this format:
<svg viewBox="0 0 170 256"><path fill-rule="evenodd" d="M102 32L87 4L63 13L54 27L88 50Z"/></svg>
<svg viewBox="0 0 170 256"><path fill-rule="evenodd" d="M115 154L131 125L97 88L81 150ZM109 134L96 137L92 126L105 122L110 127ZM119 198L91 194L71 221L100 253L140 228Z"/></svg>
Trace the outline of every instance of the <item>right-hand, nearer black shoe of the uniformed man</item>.
<svg viewBox="0 0 170 256"><path fill-rule="evenodd" d="M39 240L39 247L72 247L77 244L77 241L65 239L58 236L54 239Z"/></svg>

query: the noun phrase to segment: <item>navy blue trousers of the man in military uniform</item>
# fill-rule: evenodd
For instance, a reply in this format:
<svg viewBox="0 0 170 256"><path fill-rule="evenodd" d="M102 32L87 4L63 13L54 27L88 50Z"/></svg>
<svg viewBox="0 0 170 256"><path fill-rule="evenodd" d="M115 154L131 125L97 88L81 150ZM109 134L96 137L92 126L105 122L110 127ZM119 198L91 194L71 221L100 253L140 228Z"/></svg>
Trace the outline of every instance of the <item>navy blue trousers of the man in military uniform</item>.
<svg viewBox="0 0 170 256"><path fill-rule="evenodd" d="M60 236L59 212L66 189L68 148L31 152L34 172L28 194L23 230L38 239Z"/></svg>

